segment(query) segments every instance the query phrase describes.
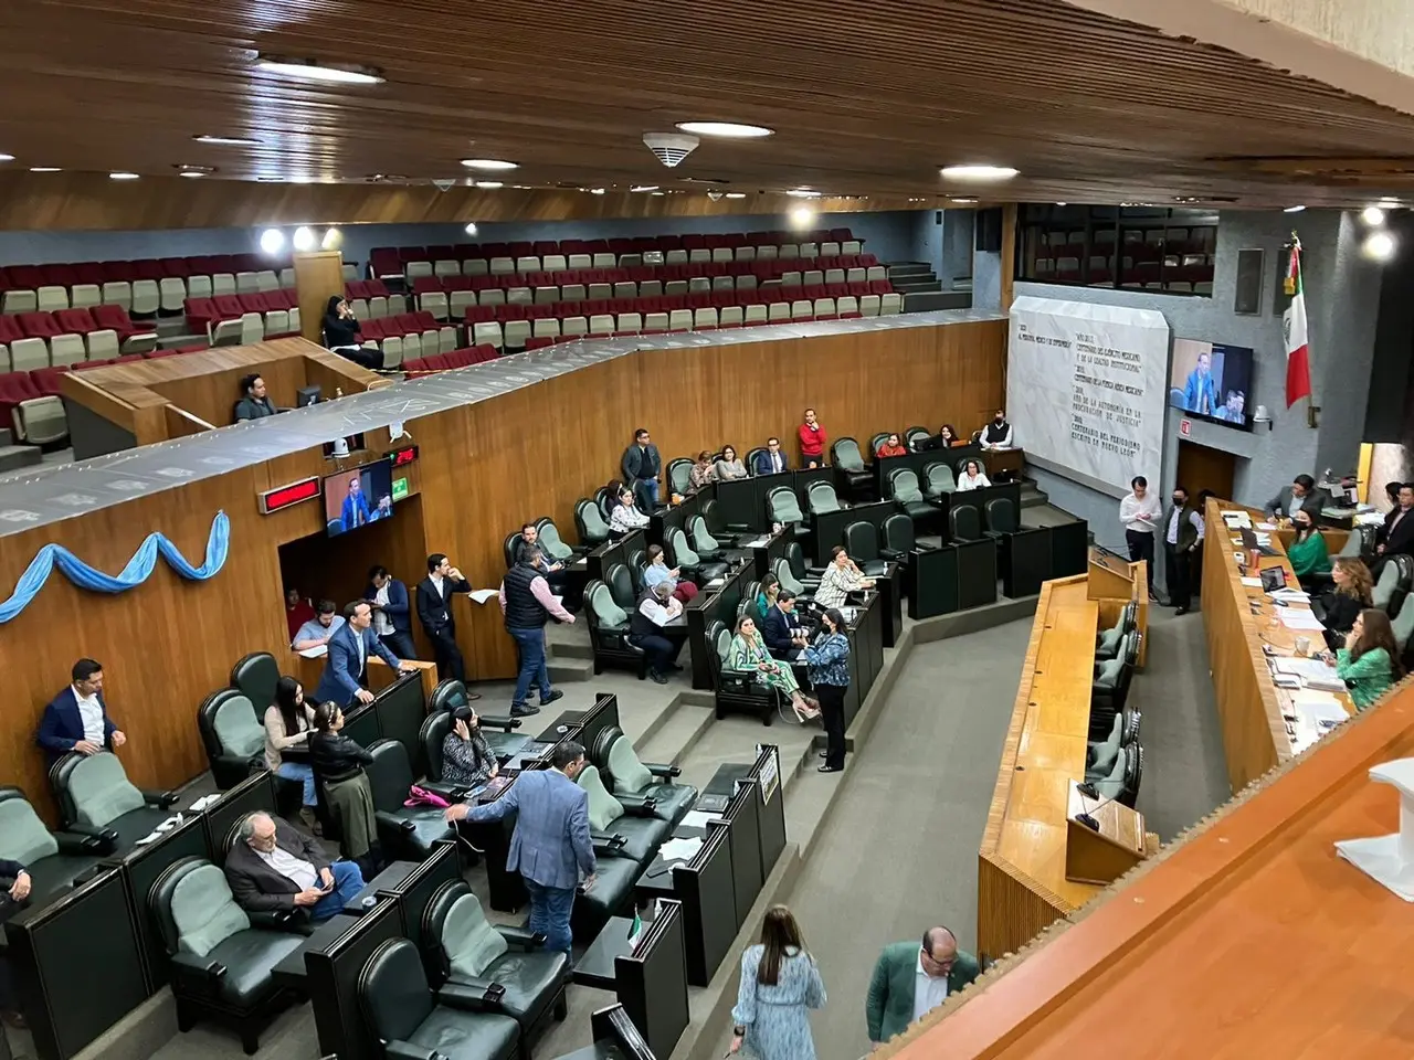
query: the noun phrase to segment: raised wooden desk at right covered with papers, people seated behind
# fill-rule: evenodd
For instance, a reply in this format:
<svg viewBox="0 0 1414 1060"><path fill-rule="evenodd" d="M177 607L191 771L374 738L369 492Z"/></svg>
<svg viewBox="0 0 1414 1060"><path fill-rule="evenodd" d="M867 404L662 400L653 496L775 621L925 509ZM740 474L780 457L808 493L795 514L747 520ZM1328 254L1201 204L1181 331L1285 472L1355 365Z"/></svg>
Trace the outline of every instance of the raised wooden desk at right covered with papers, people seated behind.
<svg viewBox="0 0 1414 1060"><path fill-rule="evenodd" d="M1223 728L1223 752L1227 758L1227 782L1233 791L1240 791L1273 766L1284 765L1292 758L1291 738L1282 709L1290 709L1291 694L1277 688L1267 667L1263 644L1290 654L1297 637L1305 636L1312 649L1324 647L1321 633L1302 633L1273 625L1273 605L1260 588L1241 584L1243 572L1237 568L1233 533L1222 520L1222 512L1240 509L1227 500L1209 500L1205 513L1206 530L1203 538L1203 625L1208 632L1208 657L1213 674L1213 693L1217 700L1217 717ZM1246 509L1253 526L1263 522L1261 512ZM1260 570L1281 567L1287 572L1287 584L1295 585L1297 575L1287 560L1281 536L1271 534L1271 547L1280 555L1258 557ZM1250 572L1256 577L1257 571ZM1260 613L1253 613L1253 603L1260 605ZM1355 707L1349 697L1340 697L1346 709Z"/></svg>

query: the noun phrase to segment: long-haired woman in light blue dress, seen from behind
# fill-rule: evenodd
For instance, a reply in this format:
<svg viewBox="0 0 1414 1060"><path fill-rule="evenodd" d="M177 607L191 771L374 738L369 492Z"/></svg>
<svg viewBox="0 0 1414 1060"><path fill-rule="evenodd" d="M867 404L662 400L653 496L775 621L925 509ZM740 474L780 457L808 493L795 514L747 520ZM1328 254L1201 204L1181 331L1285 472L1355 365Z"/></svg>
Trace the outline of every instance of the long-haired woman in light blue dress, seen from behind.
<svg viewBox="0 0 1414 1060"><path fill-rule="evenodd" d="M741 955L731 1052L745 1044L756 1060L814 1060L806 1009L823 1005L824 981L800 926L789 909L772 906L761 924L761 944Z"/></svg>

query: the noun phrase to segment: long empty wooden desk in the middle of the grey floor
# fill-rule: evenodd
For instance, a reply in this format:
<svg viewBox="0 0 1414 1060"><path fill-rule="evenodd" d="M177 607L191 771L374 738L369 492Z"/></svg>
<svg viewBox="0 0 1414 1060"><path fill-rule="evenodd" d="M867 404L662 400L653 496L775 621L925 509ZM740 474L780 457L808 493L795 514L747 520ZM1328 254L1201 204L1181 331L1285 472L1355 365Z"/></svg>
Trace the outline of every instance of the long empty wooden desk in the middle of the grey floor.
<svg viewBox="0 0 1414 1060"><path fill-rule="evenodd" d="M1085 780L1100 605L1076 575L1041 587L977 864L977 948L1019 950L1100 888L1065 878L1070 783Z"/></svg>

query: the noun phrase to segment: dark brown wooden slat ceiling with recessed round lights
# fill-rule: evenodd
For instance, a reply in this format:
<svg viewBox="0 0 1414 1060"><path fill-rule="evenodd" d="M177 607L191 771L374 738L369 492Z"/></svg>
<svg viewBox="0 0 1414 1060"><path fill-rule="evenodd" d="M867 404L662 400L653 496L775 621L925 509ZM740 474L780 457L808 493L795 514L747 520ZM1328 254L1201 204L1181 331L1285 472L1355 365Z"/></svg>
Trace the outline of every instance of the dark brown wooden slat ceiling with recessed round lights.
<svg viewBox="0 0 1414 1060"><path fill-rule="evenodd" d="M933 202L978 194L940 165L987 161L1022 175L981 194L1022 201L1414 192L1414 117L1059 0L8 0L0 40L8 168L426 182L475 155L533 187ZM387 81L291 82L252 71L257 51ZM691 119L778 133L663 168L642 134Z"/></svg>

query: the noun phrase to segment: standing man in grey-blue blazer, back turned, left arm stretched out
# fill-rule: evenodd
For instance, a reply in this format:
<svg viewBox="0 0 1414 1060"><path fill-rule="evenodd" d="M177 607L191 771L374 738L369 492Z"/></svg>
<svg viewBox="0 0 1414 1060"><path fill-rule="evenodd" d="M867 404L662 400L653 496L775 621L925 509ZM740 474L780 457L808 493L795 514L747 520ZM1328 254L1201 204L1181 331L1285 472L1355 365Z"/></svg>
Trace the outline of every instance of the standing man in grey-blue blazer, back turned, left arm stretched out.
<svg viewBox="0 0 1414 1060"><path fill-rule="evenodd" d="M590 841L590 793L574 783L584 769L584 748L574 741L557 743L550 769L522 772L501 799L475 808L465 803L448 807L448 821L499 821L519 811L510 837L506 868L519 871L530 895L532 931L543 931L547 950L570 953L570 910L574 888L584 873L584 889L594 886L594 844Z"/></svg>

